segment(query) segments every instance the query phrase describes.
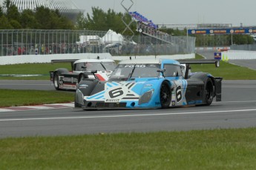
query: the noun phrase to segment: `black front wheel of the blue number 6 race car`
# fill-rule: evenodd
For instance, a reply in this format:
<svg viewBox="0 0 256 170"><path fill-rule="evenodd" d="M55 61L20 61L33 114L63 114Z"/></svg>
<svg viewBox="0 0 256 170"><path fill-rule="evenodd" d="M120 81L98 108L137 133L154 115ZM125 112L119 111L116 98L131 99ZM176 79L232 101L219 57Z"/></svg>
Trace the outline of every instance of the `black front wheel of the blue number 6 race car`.
<svg viewBox="0 0 256 170"><path fill-rule="evenodd" d="M171 103L171 89L166 81L161 85L160 103L163 109L168 108Z"/></svg>

